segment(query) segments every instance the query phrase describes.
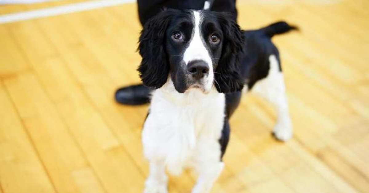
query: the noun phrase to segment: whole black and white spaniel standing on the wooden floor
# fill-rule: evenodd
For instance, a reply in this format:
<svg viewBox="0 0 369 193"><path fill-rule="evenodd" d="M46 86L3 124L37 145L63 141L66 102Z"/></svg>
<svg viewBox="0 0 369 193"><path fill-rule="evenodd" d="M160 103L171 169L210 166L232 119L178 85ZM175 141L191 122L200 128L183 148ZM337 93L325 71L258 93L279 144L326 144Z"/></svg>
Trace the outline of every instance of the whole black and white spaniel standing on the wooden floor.
<svg viewBox="0 0 369 193"><path fill-rule="evenodd" d="M208 193L224 168L228 123L241 90L277 107L273 134L292 136L277 48L270 41L294 27L284 22L242 31L232 15L208 10L167 9L150 18L139 38L138 68L153 87L142 131L150 174L144 193L167 193L165 170L199 175L192 193Z"/></svg>

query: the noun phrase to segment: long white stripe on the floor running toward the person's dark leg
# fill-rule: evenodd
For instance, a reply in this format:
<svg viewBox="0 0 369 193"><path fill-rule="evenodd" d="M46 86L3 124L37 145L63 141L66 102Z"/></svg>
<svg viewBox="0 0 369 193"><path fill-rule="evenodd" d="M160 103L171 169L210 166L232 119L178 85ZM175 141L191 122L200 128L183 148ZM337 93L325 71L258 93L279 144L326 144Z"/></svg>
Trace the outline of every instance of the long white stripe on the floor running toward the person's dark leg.
<svg viewBox="0 0 369 193"><path fill-rule="evenodd" d="M11 23L15 21L30 20L34 18L48 17L53 15L61 15L67 13L74 13L79 11L86 11L92 9L98 9L103 7L110 7L125 3L132 3L136 0L95 0L86 1L82 3L68 4L58 7L50 7L32 11L24 11L19 13L11 13L0 15L0 24Z"/></svg>

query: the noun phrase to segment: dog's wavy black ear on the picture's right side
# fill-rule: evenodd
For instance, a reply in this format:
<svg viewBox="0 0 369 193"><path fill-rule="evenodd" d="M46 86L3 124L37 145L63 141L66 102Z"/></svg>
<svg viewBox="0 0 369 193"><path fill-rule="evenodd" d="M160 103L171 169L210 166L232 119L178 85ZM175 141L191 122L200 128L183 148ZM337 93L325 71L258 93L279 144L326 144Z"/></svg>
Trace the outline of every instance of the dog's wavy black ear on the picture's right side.
<svg viewBox="0 0 369 193"><path fill-rule="evenodd" d="M218 66L215 69L215 87L218 92L230 93L242 90L244 79L240 72L240 62L245 42L242 30L228 13L217 13L223 30L223 48Z"/></svg>

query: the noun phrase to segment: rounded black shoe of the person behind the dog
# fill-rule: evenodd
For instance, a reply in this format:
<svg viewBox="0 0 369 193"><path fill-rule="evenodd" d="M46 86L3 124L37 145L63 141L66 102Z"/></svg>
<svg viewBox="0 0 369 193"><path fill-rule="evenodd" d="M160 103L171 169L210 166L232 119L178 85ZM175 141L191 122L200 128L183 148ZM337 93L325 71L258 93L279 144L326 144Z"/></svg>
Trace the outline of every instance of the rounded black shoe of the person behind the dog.
<svg viewBox="0 0 369 193"><path fill-rule="evenodd" d="M121 87L115 92L115 100L120 104L139 105L150 102L151 89L144 85Z"/></svg>

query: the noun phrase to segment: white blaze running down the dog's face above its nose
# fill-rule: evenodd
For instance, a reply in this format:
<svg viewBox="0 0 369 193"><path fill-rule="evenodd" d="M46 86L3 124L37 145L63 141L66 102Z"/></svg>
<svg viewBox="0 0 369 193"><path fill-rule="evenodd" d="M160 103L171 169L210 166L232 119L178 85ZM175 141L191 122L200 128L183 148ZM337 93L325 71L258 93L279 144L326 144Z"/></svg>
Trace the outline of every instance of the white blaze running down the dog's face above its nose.
<svg viewBox="0 0 369 193"><path fill-rule="evenodd" d="M209 67L212 66L209 52L206 49L206 44L201 38L201 15L200 11L193 11L194 16L194 30L189 46L183 54L183 61L186 65L194 60L203 60L207 62Z"/></svg>

